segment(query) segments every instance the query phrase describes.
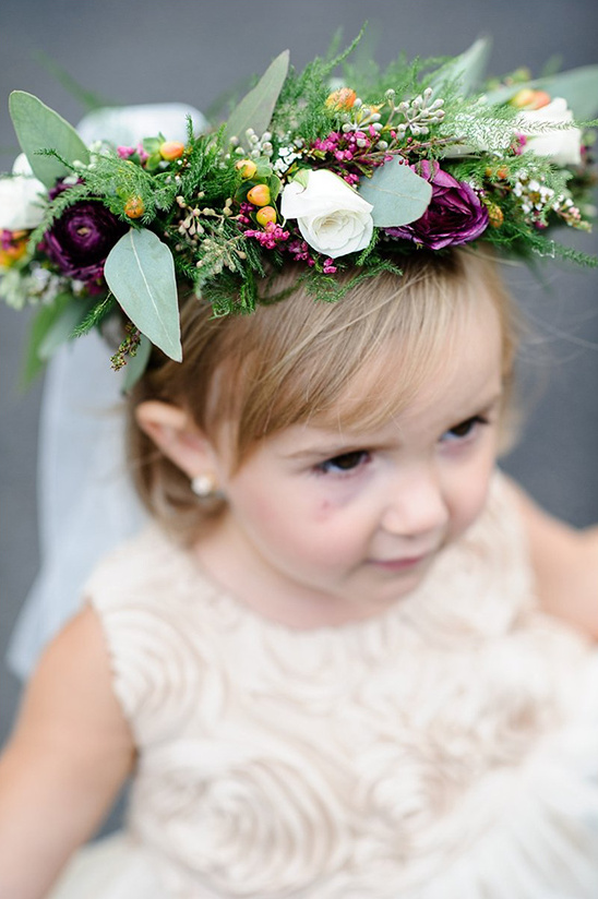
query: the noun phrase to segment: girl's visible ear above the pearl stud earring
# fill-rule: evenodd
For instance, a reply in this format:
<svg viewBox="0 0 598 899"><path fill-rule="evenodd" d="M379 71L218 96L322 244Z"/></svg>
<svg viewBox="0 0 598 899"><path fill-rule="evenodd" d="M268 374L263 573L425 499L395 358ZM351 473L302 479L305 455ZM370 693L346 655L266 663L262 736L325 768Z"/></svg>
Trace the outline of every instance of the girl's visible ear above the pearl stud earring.
<svg viewBox="0 0 598 899"><path fill-rule="evenodd" d="M135 419L160 453L189 478L214 469L215 451L212 443L184 409L157 399L147 399L136 407Z"/></svg>

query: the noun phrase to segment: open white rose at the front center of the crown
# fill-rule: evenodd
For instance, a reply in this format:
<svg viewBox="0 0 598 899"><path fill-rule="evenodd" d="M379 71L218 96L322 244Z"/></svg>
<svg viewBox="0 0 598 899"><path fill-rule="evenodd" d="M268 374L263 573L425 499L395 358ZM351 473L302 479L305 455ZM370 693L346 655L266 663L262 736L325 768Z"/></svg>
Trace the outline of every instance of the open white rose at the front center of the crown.
<svg viewBox="0 0 598 899"><path fill-rule="evenodd" d="M363 250L373 231L373 206L325 169L308 172L308 185L291 181L283 191L280 211L296 218L304 240L323 255L336 259Z"/></svg>

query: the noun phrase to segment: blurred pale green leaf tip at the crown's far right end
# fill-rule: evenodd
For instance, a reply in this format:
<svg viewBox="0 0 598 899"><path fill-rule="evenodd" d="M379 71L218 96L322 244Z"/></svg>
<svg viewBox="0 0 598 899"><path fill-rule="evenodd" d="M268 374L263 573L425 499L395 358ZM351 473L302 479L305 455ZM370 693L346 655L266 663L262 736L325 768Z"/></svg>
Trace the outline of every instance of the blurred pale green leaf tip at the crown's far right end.
<svg viewBox="0 0 598 899"><path fill-rule="evenodd" d="M510 84L490 91L486 97L489 104L509 103L519 91L546 91L552 98L564 97L577 121L587 121L598 116L598 65L583 65L569 72Z"/></svg>

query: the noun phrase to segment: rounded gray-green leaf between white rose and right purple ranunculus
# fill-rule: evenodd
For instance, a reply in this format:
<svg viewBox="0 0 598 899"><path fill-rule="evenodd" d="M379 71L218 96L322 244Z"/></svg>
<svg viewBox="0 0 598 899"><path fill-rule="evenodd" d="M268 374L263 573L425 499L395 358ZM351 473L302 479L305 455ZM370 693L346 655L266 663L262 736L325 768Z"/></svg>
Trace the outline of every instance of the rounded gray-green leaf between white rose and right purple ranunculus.
<svg viewBox="0 0 598 899"><path fill-rule="evenodd" d="M378 228L398 228L421 218L432 199L432 185L394 158L363 179L360 196L373 206Z"/></svg>

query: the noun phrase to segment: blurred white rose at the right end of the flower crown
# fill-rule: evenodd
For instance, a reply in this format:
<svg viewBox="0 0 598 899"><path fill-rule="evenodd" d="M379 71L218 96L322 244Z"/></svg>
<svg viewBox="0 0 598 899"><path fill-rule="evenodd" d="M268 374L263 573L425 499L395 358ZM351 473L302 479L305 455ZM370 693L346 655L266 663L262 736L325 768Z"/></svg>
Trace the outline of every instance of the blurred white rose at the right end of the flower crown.
<svg viewBox="0 0 598 899"><path fill-rule="evenodd" d="M525 152L550 156L559 166L578 166L582 161L582 131L578 128L555 129L549 125L573 121L573 112L563 97L554 97L540 109L524 110L517 123L527 137ZM541 130L538 130L540 125Z"/></svg>

